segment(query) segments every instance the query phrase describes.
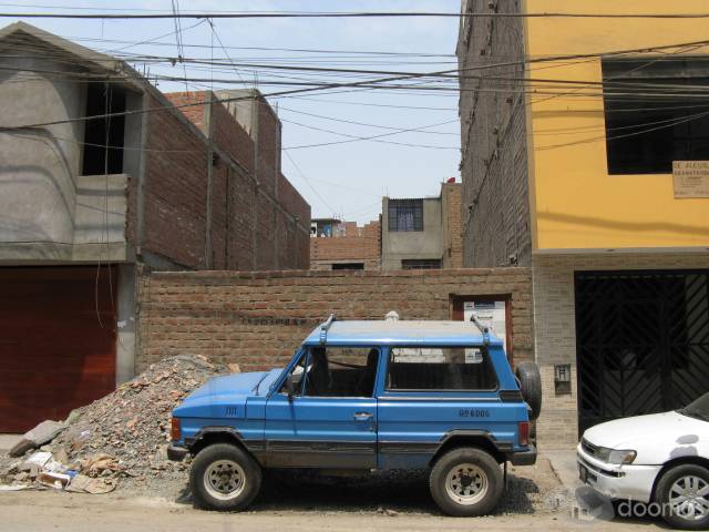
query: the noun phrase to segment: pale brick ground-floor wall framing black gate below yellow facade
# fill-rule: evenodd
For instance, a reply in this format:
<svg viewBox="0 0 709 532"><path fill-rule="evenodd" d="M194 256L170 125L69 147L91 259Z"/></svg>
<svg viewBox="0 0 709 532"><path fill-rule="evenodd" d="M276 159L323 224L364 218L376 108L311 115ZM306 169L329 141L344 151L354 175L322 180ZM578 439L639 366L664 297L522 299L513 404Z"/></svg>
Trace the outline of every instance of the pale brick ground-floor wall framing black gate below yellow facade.
<svg viewBox="0 0 709 532"><path fill-rule="evenodd" d="M534 349L542 371L544 391L544 413L537 430L543 447L568 448L578 441L574 273L604 269L691 269L706 268L707 264L709 253L598 253L534 257ZM556 396L555 364L571 364L572 395Z"/></svg>

